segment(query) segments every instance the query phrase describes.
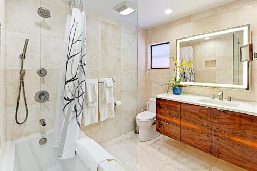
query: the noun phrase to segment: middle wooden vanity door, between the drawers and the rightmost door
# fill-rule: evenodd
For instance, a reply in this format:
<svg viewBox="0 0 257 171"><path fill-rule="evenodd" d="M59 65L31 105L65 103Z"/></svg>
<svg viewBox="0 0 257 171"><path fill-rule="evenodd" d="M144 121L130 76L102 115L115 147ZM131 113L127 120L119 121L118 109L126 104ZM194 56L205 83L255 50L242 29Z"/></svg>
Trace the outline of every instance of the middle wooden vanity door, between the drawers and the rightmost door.
<svg viewBox="0 0 257 171"><path fill-rule="evenodd" d="M212 108L181 103L181 142L212 154Z"/></svg>

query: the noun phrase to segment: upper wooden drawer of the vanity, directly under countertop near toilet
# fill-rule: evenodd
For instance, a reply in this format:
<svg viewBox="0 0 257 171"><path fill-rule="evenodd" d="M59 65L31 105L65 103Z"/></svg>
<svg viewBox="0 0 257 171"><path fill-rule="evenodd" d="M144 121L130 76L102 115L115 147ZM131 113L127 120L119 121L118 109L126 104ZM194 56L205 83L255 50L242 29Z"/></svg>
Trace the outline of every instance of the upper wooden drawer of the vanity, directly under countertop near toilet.
<svg viewBox="0 0 257 171"><path fill-rule="evenodd" d="M180 112L157 106L156 118L180 126Z"/></svg>

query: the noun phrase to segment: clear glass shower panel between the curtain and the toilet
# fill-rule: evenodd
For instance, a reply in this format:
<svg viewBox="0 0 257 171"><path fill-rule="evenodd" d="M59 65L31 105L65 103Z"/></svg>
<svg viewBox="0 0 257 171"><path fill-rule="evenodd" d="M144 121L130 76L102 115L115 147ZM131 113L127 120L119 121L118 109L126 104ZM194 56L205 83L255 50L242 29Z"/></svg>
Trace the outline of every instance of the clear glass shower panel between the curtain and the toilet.
<svg viewBox="0 0 257 171"><path fill-rule="evenodd" d="M115 117L81 126L81 130L120 163L136 169L137 134L137 0L127 1L135 12L123 16L113 8L119 1L85 1L87 13L86 78L113 78ZM101 83L99 83L101 84ZM100 116L99 116L100 117ZM127 168L124 168L126 167Z"/></svg>

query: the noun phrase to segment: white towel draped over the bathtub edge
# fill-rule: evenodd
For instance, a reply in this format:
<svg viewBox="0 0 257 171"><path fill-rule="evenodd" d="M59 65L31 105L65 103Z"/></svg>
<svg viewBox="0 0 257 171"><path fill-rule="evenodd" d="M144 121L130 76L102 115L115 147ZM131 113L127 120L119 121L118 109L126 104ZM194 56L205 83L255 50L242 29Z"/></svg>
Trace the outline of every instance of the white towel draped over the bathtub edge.
<svg viewBox="0 0 257 171"><path fill-rule="evenodd" d="M115 160L97 142L82 138L76 143L76 152L90 171L97 171L98 165L105 160Z"/></svg>

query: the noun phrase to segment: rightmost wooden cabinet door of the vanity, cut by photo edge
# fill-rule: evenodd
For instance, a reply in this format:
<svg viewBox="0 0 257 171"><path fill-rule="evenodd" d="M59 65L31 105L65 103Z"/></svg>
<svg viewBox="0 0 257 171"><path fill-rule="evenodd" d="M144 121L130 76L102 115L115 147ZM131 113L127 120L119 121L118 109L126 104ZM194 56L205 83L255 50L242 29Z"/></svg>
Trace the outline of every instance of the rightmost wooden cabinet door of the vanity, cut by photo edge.
<svg viewBox="0 0 257 171"><path fill-rule="evenodd" d="M214 109L214 156L257 170L257 116Z"/></svg>

